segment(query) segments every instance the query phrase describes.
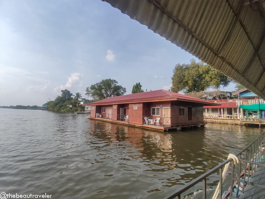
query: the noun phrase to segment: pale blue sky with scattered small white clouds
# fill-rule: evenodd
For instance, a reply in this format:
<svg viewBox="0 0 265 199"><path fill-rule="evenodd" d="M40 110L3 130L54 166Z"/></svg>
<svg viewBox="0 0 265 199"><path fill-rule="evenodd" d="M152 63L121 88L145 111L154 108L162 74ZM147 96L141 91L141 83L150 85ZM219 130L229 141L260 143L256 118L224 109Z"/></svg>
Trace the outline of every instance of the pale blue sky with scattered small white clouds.
<svg viewBox="0 0 265 199"><path fill-rule="evenodd" d="M0 106L41 106L62 89L87 98L107 78L126 94L137 82L168 90L176 64L198 61L100 0L1 0L0 44Z"/></svg>

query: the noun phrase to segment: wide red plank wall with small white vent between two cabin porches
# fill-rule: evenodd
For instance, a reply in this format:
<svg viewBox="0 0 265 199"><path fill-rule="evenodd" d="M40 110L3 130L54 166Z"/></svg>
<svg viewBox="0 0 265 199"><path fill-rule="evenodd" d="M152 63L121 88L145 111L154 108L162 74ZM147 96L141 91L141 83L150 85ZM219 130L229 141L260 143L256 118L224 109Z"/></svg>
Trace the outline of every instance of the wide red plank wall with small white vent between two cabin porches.
<svg viewBox="0 0 265 199"><path fill-rule="evenodd" d="M137 109L133 109L137 106ZM143 124L143 103L129 104L129 123Z"/></svg>

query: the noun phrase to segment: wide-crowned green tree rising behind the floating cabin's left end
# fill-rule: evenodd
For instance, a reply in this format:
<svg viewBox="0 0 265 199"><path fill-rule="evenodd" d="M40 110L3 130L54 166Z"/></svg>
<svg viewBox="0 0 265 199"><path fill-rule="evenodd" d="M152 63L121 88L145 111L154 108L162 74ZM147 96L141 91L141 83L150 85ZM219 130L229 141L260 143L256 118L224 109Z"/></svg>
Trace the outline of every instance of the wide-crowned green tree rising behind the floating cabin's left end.
<svg viewBox="0 0 265 199"><path fill-rule="evenodd" d="M93 100L102 100L108 97L121 96L126 93L126 88L117 85L116 80L105 79L99 83L92 84L86 88L86 95L93 98Z"/></svg>

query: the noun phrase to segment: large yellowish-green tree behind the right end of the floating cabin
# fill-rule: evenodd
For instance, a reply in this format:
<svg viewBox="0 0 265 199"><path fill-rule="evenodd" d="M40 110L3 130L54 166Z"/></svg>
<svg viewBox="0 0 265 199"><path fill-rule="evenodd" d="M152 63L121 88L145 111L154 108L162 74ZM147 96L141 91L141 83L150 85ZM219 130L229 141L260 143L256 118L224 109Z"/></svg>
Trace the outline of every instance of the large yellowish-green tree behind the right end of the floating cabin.
<svg viewBox="0 0 265 199"><path fill-rule="evenodd" d="M171 91L205 91L208 88L218 89L227 86L232 80L202 61L190 64L177 64L173 70Z"/></svg>

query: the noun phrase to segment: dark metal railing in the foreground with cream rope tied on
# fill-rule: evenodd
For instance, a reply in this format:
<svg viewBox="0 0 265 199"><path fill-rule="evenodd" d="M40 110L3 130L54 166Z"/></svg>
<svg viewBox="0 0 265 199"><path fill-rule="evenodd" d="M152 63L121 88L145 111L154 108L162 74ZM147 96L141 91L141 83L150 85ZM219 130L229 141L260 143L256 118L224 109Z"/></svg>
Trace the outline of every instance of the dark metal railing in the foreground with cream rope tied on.
<svg viewBox="0 0 265 199"><path fill-rule="evenodd" d="M238 198L240 193L244 193L244 187L245 185L254 185L256 187L265 188L264 185L259 185L253 182L250 182L250 178L252 178L253 173L256 172L256 166L265 166L265 164L261 164L261 157L264 155L264 147L265 147L265 132L260 134L259 137L249 144L246 148L241 150L236 156L239 159L239 163L237 165L234 165L234 162L231 158L225 160L223 163L217 165L213 169L209 170L205 174L197 177L196 179L192 180L188 184L184 185L179 190L173 192L169 196L167 196L167 199L170 198L178 198L180 199L181 194L183 194L185 191L193 187L199 182L202 182L203 184L203 198L206 198L206 180L211 175L218 172L219 175L219 183L220 183L220 189L219 189L219 195L218 198L225 199L226 197L229 198ZM230 174L230 188L228 191L224 191L223 193L223 177L222 177L222 170L223 167L231 162L231 174ZM244 170L241 170L244 169ZM236 177L235 177L236 173ZM236 186L237 185L237 186ZM240 185L242 187L240 188ZM235 190L236 189L236 190ZM240 190L241 189L241 190Z"/></svg>

